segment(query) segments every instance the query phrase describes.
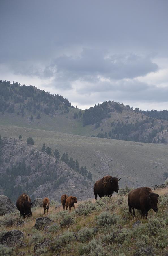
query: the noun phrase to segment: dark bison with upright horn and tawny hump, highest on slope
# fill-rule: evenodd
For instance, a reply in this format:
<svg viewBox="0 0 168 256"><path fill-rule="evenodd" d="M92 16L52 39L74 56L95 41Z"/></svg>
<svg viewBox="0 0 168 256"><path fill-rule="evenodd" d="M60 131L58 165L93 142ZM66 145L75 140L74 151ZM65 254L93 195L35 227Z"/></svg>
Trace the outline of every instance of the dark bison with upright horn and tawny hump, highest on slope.
<svg viewBox="0 0 168 256"><path fill-rule="evenodd" d="M97 200L97 195L99 195L99 197L101 198L104 196L111 197L114 191L118 193L119 180L120 179L118 178L107 175L107 176L104 176L102 179L99 179L98 181L96 181L93 189L95 199Z"/></svg>

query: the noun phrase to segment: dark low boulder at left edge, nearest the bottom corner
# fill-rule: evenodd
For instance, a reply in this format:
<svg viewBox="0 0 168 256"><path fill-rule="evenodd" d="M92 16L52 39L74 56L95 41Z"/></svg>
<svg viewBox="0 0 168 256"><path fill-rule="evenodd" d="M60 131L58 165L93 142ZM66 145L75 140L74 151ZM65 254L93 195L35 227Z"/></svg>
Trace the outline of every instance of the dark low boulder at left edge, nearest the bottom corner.
<svg viewBox="0 0 168 256"><path fill-rule="evenodd" d="M21 242L23 233L20 230L13 229L5 233L0 240L0 243L7 246L14 246L16 243Z"/></svg>

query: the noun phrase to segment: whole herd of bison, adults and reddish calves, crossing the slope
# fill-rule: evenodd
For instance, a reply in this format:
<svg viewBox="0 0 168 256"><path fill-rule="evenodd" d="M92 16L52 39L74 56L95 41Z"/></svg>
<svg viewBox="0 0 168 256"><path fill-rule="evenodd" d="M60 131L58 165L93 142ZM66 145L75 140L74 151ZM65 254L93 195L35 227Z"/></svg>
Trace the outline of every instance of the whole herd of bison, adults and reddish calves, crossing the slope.
<svg viewBox="0 0 168 256"><path fill-rule="evenodd" d="M95 199L97 200L97 195L99 197L108 196L111 197L113 192L119 191L119 182L120 179L116 177L111 177L109 175L104 176L102 179L99 179L94 184L94 195ZM137 189L133 189L128 194L128 207L129 212L133 210L133 216L135 216L135 210L141 210L144 217L147 217L148 211L152 208L155 212L158 211L157 203L158 203L159 195L153 193L149 187L139 187ZM44 214L47 210L49 210L49 199L45 197L43 199L43 208ZM66 194L61 196L61 203L63 205L63 210L68 209L71 210L72 207L75 209L75 203L77 203L77 198L73 196L67 196ZM16 207L20 211L20 215L23 217L30 217L32 215L31 212L31 199L28 195L22 194L19 196Z"/></svg>

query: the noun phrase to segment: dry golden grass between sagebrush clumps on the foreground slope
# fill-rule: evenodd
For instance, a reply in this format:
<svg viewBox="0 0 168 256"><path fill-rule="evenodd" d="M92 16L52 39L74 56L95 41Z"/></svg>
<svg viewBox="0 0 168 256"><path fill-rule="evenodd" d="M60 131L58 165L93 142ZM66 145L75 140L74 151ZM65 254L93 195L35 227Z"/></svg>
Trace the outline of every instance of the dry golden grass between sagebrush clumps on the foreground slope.
<svg viewBox="0 0 168 256"><path fill-rule="evenodd" d="M158 193L160 195L160 199L162 200L158 203L158 208L159 211L156 214L153 210L150 210L148 212L148 218L142 218L141 214L139 211L135 212L135 218L133 218L132 215L129 214L128 212L128 205L127 205L127 196L118 196L115 195L111 197L110 200L105 199L99 199L97 202L95 199L91 199L89 204L94 204L96 206L96 209L90 212L87 216L78 216L76 211L72 208L71 212L66 212L62 213L65 216L70 216L74 220L74 224L70 226L63 226L60 227L59 230L55 231L49 231L48 229L46 230L35 230L33 226L35 225L36 218L38 217L43 217L43 209L42 208L32 208L32 217L31 218L26 218L25 223L22 226L17 226L16 224L12 226L0 226L0 232L2 230L12 230L12 229L18 229L23 232L24 238L23 242L26 244L25 247L19 248L16 246L14 249L14 253L17 255L22 255L24 252L24 255L35 255L33 250L34 250L34 244L32 242L32 237L34 235L37 236L42 236L42 240L45 238L50 239L52 242L52 245L55 245L59 237L61 237L64 234L68 234L68 232L72 232L73 234L77 234L79 230L82 230L83 228L93 228L97 227L98 232L93 234L89 241L92 240L92 238L95 238L96 241L99 239L102 239L102 237L105 237L107 234L110 234L111 230L113 230L113 225L111 227L109 226L98 226L97 224L97 218L101 214L101 212L107 212L110 214L110 216L118 216L117 223L114 225L115 229L121 229L126 228L130 232L130 238L125 239L123 242L122 246L119 246L117 242L113 243L105 243L105 245L102 247L102 244L100 243L101 250L105 251L107 254L102 254L102 255L119 255L120 253L123 253L122 255L135 255L135 252L138 250L138 245L137 241L141 240L141 236L144 234L145 236L148 236L150 240L150 244L154 246L155 249L155 255L166 255L166 251L168 251L168 242L164 240L162 237L164 234L161 234L160 231L158 232L158 235L151 236L150 232L146 228L146 224L153 219L158 219L162 218L164 221L166 221L166 226L163 229L161 229L161 232L167 234L168 232L168 213L167 213L167 206L168 206L168 197L167 197L167 204L166 201L163 201L164 195L168 194L168 187L165 189L157 189L154 191L155 193ZM79 207L81 204L86 204L87 201L79 201L75 206L76 208ZM98 205L99 203L102 203L102 205ZM115 206L113 208L113 206ZM60 221L63 220L63 215L60 214L63 212L62 206L55 208L55 205L51 205L49 208L49 214L45 214L46 217L49 217L53 219L55 223L60 224ZM10 214L9 216L1 216L0 217L0 223L1 221L4 221L6 218L12 218L12 219L18 219L23 220L23 218L19 217L19 212L16 212L15 214ZM137 228L132 228L132 225L134 222L137 220L141 220L142 224L141 227ZM154 239L158 239L158 245L154 245ZM45 255L80 255L82 252L84 253L83 246L87 246L89 241L85 243L81 243L78 240L74 240L72 242L67 242L66 244L62 245L61 248L55 249L55 251L50 250L50 247L47 248L47 252L43 252ZM149 246L149 245L146 245ZM146 248L146 247L145 247ZM141 250L141 249L139 249ZM113 251L113 253L110 254L110 251ZM37 255L44 255L44 254L37 254ZM92 255L101 255L101 254L94 254L94 251L92 251ZM109 253L109 254L108 254ZM117 254L118 253L118 254ZM81 254L81 255L87 255L86 254ZM138 255L138 254L137 254ZM139 254L140 255L140 254ZM142 255L147 255L147 254L142 254ZM149 255L154 255L154 254L149 254Z"/></svg>

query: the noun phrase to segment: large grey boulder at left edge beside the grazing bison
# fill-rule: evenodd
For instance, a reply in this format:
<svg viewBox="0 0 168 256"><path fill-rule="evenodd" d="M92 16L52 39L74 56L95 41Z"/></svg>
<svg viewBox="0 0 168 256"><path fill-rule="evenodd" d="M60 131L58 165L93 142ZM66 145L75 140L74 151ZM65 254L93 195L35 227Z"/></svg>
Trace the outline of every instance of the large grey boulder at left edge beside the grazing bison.
<svg viewBox="0 0 168 256"><path fill-rule="evenodd" d="M12 213L15 209L16 206L7 196L0 195L0 215Z"/></svg>

